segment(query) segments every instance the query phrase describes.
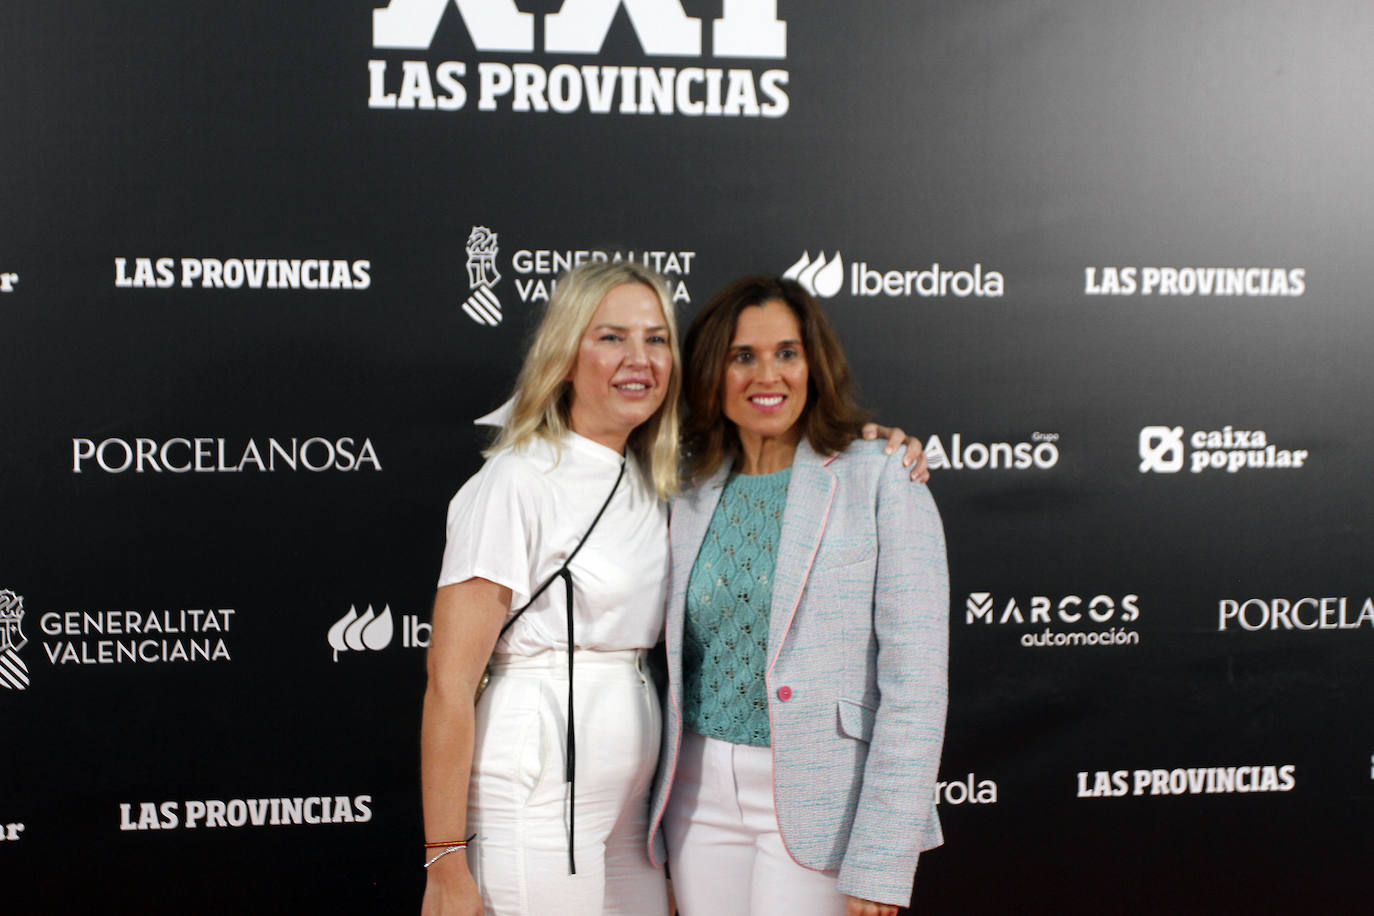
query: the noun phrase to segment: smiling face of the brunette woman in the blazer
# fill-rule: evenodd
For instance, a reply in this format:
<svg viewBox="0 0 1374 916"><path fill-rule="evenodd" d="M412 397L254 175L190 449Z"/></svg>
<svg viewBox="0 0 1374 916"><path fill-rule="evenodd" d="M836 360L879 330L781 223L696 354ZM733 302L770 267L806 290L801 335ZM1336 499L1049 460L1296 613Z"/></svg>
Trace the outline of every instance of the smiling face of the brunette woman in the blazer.
<svg viewBox="0 0 1374 916"><path fill-rule="evenodd" d="M745 308L725 353L720 394L746 455L767 439L800 441L807 379L807 352L793 310L778 299Z"/></svg>

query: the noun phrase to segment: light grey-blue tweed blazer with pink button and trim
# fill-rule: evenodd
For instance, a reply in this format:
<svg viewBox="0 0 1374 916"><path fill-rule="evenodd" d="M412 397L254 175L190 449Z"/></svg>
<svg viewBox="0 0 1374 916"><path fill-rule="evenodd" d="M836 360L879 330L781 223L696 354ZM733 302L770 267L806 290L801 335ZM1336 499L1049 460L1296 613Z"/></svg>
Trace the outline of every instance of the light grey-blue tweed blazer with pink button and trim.
<svg viewBox="0 0 1374 916"><path fill-rule="evenodd" d="M730 472L687 490L671 522L668 691L650 856L682 743L687 580ZM934 783L948 696L949 584L930 492L881 442L823 457L798 445L769 612L774 799L787 851L840 869L840 891L907 905L916 856L943 842Z"/></svg>

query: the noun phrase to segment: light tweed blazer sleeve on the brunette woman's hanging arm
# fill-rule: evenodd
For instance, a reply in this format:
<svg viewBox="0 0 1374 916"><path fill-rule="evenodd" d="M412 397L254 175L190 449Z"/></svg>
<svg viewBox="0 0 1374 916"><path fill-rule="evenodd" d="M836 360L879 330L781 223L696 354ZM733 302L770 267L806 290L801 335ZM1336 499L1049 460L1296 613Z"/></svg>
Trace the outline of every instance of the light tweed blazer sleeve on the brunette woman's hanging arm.
<svg viewBox="0 0 1374 916"><path fill-rule="evenodd" d="M949 692L949 573L934 499L896 456L882 468L877 515L878 707L838 889L904 906L919 853L941 843L934 784Z"/></svg>

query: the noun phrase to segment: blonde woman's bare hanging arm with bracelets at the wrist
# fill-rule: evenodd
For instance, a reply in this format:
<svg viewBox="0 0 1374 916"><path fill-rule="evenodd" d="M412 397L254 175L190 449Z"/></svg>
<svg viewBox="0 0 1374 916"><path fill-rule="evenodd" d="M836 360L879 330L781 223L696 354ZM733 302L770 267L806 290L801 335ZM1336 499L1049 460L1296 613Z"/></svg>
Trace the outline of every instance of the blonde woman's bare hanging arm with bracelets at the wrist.
<svg viewBox="0 0 1374 916"><path fill-rule="evenodd" d="M510 603L508 588L484 578L445 585L434 596L429 683L420 718L420 791L427 843L467 836L474 698ZM442 850L425 851L429 861ZM429 868L420 913L481 916L482 898L462 851Z"/></svg>

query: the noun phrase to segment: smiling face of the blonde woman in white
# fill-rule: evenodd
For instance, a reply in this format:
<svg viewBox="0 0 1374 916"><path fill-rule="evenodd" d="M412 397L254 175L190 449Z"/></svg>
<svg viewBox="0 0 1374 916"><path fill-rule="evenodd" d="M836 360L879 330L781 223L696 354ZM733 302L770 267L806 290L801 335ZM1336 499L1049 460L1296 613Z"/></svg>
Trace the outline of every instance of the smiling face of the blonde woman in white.
<svg viewBox="0 0 1374 916"><path fill-rule="evenodd" d="M573 386L573 431L624 450L635 427L662 405L672 368L658 295L643 283L611 288L583 331L567 376Z"/></svg>

